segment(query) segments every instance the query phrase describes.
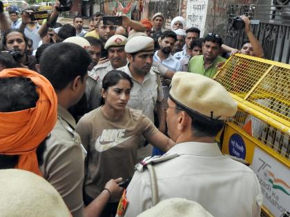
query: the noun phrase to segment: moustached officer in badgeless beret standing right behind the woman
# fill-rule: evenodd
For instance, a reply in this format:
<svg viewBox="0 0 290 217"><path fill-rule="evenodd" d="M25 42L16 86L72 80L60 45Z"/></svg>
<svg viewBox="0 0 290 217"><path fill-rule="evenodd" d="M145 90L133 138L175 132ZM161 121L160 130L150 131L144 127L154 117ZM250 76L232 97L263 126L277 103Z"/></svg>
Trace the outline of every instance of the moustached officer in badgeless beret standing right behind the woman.
<svg viewBox="0 0 290 217"><path fill-rule="evenodd" d="M125 45L128 64L118 70L126 72L133 81L128 107L142 110L154 123L154 111L157 112L160 131L165 132L165 112L160 107L163 100L160 74L151 70L153 64L154 41L150 37L136 36ZM150 156L153 147L147 145L139 149L139 159Z"/></svg>

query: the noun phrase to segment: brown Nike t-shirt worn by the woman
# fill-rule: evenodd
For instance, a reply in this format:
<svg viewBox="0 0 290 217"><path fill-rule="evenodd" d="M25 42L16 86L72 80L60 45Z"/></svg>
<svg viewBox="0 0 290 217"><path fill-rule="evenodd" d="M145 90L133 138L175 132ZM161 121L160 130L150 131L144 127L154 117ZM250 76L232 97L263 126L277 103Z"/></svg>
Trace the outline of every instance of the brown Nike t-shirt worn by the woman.
<svg viewBox="0 0 290 217"><path fill-rule="evenodd" d="M158 132L142 111L130 107L117 121L106 118L98 107L79 120L76 131L88 151L84 191L90 198L98 196L111 178L132 178L140 139Z"/></svg>

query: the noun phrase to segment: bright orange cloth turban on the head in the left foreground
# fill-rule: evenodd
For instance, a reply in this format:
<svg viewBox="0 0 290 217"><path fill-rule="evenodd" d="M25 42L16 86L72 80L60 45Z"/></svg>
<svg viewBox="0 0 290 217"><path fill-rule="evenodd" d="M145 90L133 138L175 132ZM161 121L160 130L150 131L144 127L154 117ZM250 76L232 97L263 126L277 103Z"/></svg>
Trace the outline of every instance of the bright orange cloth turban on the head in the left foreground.
<svg viewBox="0 0 290 217"><path fill-rule="evenodd" d="M19 155L16 168L41 176L36 149L57 121L57 96L41 74L24 68L7 69L0 77L28 77L35 83L39 99L36 107L17 112L0 112L0 154Z"/></svg>

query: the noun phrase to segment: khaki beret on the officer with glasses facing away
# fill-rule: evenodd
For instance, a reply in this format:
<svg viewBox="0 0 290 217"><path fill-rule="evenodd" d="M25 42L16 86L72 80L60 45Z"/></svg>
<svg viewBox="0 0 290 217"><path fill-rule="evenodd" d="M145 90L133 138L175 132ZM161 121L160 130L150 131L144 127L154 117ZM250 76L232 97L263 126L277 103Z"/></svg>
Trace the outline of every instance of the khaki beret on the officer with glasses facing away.
<svg viewBox="0 0 290 217"><path fill-rule="evenodd" d="M176 72L171 81L171 99L200 114L224 120L234 116L237 103L220 83L201 74Z"/></svg>

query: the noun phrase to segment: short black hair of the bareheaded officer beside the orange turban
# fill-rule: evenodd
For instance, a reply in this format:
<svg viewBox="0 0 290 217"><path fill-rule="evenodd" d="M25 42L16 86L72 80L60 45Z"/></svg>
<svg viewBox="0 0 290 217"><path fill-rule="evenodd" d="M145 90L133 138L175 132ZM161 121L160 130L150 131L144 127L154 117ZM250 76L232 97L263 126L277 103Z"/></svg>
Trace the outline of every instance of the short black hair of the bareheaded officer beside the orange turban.
<svg viewBox="0 0 290 217"><path fill-rule="evenodd" d="M90 55L81 46L56 43L41 55L40 73L46 76L55 90L63 90L77 76L86 76L91 61Z"/></svg>

